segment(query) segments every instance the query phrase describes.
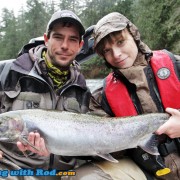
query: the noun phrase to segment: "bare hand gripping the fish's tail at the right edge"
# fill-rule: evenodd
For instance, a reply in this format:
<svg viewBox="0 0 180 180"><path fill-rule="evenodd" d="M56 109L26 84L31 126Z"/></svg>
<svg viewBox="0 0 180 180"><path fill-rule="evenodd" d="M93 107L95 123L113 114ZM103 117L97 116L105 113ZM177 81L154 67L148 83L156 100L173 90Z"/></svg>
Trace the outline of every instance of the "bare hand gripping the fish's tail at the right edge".
<svg viewBox="0 0 180 180"><path fill-rule="evenodd" d="M177 109L166 108L166 112L172 116L156 131L156 134L167 134L170 138L180 137L180 112Z"/></svg>

